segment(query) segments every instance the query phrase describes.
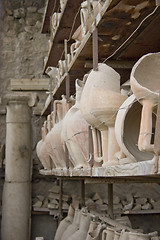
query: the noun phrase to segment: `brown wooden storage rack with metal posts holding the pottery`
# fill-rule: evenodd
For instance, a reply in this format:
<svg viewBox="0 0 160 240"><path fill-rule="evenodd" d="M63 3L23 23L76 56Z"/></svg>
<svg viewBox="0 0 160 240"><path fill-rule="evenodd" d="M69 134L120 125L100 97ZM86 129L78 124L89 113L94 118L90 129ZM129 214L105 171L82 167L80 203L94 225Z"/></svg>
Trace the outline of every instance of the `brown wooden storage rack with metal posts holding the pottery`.
<svg viewBox="0 0 160 240"><path fill-rule="evenodd" d="M70 37L71 30L74 31L80 25L80 18L76 16L82 0L68 0L61 12L60 23L53 37L52 46L48 53L48 60L43 72L48 66L56 67L58 60L64 57L63 41ZM146 4L147 2L147 4ZM54 4L53 4L54 3ZM53 11L58 9L59 1L49 0L46 6L46 14L43 22L42 33L49 31L49 18ZM145 7L142 7L143 4ZM55 7L56 6L56 7ZM142 8L141 8L142 7ZM71 19L68 16L72 17ZM66 20L67 19L67 20ZM69 20L69 21L68 21ZM72 26L73 20L75 25ZM96 68L98 62L106 62L121 75L121 84L129 79L130 71L134 63L144 54L160 51L159 33L160 9L156 8L153 0L136 1L135 8L129 8L127 0L105 1L102 10L95 19L94 26L84 37L78 51L68 67L70 77L70 94L75 93L74 81L82 78L90 69ZM68 47L73 43L68 42ZM53 98L60 99L67 91L66 74L60 79L60 83L54 88ZM50 113L50 104L42 111L42 115ZM62 215L62 194L64 180L81 181L81 202L85 202L85 184L105 183L108 184L109 215L113 217L113 184L114 183L160 183L159 174L144 176L103 176L89 177L70 176L70 174L59 174L48 172L44 175L55 175L60 180L60 214ZM155 211L141 212L152 214ZM156 213L159 213L158 211ZM131 213L134 214L134 213ZM135 213L136 214L136 213ZM139 213L137 213L139 214Z"/></svg>

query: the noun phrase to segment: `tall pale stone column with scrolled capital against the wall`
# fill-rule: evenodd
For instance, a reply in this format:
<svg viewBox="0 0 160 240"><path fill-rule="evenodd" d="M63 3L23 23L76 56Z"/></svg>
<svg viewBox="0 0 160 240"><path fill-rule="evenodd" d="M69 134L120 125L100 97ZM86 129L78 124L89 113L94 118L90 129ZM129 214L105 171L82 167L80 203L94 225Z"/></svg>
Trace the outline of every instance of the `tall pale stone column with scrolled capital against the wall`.
<svg viewBox="0 0 160 240"><path fill-rule="evenodd" d="M31 219L31 107L36 96L7 94L6 168L2 239L29 240Z"/></svg>

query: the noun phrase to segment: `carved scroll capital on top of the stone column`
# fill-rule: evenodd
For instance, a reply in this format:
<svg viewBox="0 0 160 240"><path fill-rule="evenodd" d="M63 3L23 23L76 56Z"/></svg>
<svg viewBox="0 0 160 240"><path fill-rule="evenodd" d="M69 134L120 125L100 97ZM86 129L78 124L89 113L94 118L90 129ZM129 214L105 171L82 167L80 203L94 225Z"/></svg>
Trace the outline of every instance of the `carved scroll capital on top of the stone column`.
<svg viewBox="0 0 160 240"><path fill-rule="evenodd" d="M34 107L38 102L38 96L37 93L32 92L9 92L2 97L2 103L8 105L9 102L24 102L29 107Z"/></svg>

